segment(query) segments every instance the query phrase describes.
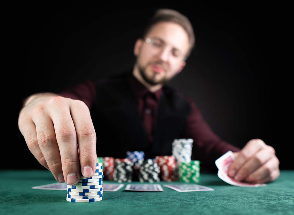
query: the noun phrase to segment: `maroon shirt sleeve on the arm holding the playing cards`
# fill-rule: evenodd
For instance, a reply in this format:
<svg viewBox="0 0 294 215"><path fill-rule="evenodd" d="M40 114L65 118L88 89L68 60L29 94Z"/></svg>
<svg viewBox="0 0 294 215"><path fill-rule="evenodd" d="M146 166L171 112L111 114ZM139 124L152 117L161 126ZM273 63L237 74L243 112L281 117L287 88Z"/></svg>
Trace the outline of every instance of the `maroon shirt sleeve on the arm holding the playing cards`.
<svg viewBox="0 0 294 215"><path fill-rule="evenodd" d="M192 159L201 160L201 164L210 170L217 170L215 160L225 152L240 149L221 140L208 126L196 104L188 98L191 104L191 114L185 125L184 138L192 138Z"/></svg>

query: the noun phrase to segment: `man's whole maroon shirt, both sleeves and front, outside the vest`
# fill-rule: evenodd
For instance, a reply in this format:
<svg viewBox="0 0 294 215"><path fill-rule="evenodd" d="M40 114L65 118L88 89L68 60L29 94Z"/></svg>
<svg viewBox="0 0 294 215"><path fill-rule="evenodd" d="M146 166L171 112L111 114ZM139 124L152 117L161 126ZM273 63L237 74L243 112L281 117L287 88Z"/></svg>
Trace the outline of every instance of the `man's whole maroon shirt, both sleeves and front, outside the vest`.
<svg viewBox="0 0 294 215"><path fill-rule="evenodd" d="M149 142L152 144L152 129L156 120L161 89L151 93L133 75L130 75L128 78L128 83L137 101L138 111L141 115L146 133L148 134ZM95 84L88 80L60 93L60 95L82 100L91 111L91 106L96 99ZM221 140L203 119L200 110L192 99L187 98L187 100L191 106L191 113L186 121L183 134L179 138L192 138L194 140L192 159L201 158L201 162L204 166L209 169L216 169L214 161L218 157L229 150L237 152L239 149Z"/></svg>

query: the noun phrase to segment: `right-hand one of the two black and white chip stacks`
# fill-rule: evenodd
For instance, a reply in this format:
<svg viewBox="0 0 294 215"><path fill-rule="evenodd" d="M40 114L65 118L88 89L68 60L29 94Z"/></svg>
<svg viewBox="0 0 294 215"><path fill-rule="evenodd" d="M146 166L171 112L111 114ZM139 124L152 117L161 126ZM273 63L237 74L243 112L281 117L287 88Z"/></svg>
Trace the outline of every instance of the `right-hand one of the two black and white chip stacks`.
<svg viewBox="0 0 294 215"><path fill-rule="evenodd" d="M146 159L140 166L140 182L159 182L160 169L155 159Z"/></svg>

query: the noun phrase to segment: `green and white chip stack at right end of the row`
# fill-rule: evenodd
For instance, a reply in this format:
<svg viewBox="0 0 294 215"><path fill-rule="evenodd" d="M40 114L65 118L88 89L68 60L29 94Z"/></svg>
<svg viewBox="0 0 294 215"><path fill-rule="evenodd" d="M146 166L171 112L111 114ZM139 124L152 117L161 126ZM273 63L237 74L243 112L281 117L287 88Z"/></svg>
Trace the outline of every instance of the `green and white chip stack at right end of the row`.
<svg viewBox="0 0 294 215"><path fill-rule="evenodd" d="M188 163L181 163L179 167L179 177L181 182L200 181L200 161L192 160Z"/></svg>

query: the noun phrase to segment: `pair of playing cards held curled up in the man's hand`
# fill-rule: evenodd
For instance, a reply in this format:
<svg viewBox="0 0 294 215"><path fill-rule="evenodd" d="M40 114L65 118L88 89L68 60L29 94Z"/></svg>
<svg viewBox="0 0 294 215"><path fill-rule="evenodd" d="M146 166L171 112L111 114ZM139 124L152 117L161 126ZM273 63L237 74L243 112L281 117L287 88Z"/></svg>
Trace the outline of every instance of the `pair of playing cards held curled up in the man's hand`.
<svg viewBox="0 0 294 215"><path fill-rule="evenodd" d="M234 154L232 151L228 151L227 153L223 154L216 160L216 166L218 167L218 177L222 179L224 182L239 186L239 187L260 187L266 186L266 184L250 184L245 182L238 182L235 181L233 178L228 176L228 169L230 165L235 160Z"/></svg>

